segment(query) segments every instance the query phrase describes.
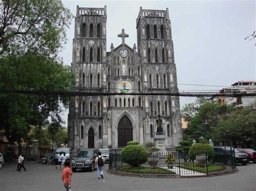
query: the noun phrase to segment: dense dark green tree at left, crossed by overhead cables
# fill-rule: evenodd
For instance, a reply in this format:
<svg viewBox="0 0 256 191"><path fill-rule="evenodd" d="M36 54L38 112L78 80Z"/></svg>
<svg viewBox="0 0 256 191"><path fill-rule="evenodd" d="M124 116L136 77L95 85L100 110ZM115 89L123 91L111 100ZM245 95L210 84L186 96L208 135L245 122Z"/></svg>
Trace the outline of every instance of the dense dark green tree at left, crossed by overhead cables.
<svg viewBox="0 0 256 191"><path fill-rule="evenodd" d="M71 67L37 53L9 54L0 63L1 89L69 91L75 81ZM61 95L0 94L0 129L10 144L21 143L32 126L41 128L49 119L62 123L59 114L68 103Z"/></svg>

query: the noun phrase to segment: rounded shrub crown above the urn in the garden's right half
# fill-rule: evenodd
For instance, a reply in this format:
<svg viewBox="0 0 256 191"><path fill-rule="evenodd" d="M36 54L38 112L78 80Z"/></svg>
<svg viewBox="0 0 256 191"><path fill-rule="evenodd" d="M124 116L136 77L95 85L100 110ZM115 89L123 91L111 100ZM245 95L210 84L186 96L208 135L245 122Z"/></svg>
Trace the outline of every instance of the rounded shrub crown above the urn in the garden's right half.
<svg viewBox="0 0 256 191"><path fill-rule="evenodd" d="M208 159L210 159L214 156L214 150L210 144L196 143L190 147L188 155L194 159L197 154L207 154Z"/></svg>

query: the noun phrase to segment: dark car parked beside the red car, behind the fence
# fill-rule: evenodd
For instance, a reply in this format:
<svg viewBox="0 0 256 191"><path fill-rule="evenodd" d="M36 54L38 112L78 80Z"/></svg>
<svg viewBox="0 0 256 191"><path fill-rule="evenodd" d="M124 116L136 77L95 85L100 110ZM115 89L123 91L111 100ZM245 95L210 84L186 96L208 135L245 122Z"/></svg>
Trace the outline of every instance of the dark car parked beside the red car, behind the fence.
<svg viewBox="0 0 256 191"><path fill-rule="evenodd" d="M249 162L248 155L241 153L235 148L228 146L214 146L215 151L214 162L226 162L226 164L231 165L233 161L233 149L235 154L235 163L241 163L242 165L247 165Z"/></svg>

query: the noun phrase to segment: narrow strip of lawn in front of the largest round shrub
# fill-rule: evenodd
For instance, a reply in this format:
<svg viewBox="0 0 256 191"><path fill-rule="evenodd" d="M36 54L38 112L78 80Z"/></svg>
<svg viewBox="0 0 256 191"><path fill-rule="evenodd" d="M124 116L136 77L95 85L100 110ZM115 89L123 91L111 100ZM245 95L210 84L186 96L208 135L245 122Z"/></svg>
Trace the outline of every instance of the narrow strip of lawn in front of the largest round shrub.
<svg viewBox="0 0 256 191"><path fill-rule="evenodd" d="M138 168L138 167L130 167L127 165L127 166L118 167L118 170L123 172L141 173L141 174L176 174L172 171L169 171L163 168L151 169L150 167L143 167L143 166L140 166Z"/></svg>

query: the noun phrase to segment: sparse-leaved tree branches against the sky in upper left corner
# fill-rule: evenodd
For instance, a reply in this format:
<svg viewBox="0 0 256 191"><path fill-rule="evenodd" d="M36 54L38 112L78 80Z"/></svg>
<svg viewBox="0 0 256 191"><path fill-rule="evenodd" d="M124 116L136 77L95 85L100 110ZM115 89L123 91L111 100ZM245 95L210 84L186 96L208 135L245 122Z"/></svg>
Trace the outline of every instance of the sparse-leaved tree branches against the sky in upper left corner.
<svg viewBox="0 0 256 191"><path fill-rule="evenodd" d="M54 58L66 41L72 14L61 1L4 0L0 7L0 56L30 53Z"/></svg>

